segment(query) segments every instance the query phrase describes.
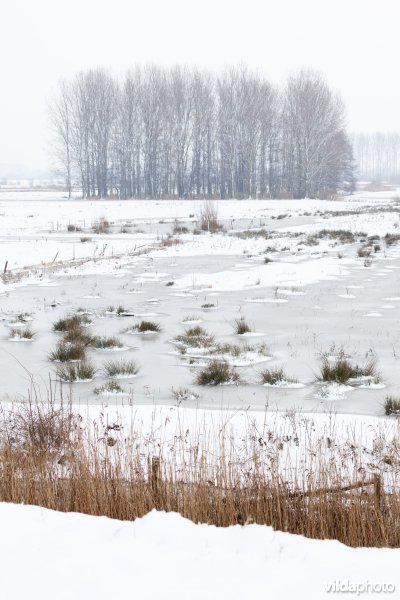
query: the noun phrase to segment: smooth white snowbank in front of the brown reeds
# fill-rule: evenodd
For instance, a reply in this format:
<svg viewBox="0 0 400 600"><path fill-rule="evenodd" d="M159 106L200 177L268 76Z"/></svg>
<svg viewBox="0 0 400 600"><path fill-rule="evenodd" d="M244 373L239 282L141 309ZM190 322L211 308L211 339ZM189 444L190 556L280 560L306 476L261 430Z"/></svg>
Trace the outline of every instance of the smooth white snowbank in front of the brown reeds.
<svg viewBox="0 0 400 600"><path fill-rule="evenodd" d="M262 525L217 528L156 511L123 522L3 503L0 529L2 600L320 600L400 590L400 550Z"/></svg>

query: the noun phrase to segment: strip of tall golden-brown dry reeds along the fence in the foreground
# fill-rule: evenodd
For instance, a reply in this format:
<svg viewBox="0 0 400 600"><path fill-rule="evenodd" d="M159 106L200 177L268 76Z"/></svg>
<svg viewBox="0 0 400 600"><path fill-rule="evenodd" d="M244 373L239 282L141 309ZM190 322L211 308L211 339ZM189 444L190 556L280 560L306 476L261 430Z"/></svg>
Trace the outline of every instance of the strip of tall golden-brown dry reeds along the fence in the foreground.
<svg viewBox="0 0 400 600"><path fill-rule="evenodd" d="M317 452L313 468L289 484L277 468L274 431L248 430L244 454L244 440L220 432L215 456L204 431L176 437L164 455L118 424L84 432L66 405L13 405L1 421L1 502L126 520L156 508L217 526L256 522L350 546L400 547L399 496L383 489L383 471L363 475L355 461L349 472L333 453Z"/></svg>

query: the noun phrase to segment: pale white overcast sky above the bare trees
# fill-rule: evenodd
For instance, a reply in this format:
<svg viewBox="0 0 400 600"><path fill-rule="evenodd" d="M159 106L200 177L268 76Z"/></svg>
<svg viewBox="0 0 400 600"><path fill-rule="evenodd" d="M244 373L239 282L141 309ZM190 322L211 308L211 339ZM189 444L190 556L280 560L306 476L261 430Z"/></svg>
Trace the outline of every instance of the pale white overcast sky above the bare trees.
<svg viewBox="0 0 400 600"><path fill-rule="evenodd" d="M349 127L400 130L399 0L1 0L0 163L49 164L60 77L135 63L321 70Z"/></svg>

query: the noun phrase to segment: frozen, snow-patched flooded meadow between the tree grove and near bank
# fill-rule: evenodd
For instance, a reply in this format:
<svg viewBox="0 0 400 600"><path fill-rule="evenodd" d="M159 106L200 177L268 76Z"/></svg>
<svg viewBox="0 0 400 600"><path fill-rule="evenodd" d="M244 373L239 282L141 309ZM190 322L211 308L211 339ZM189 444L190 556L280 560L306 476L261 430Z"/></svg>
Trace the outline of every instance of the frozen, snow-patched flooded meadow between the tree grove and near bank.
<svg viewBox="0 0 400 600"><path fill-rule="evenodd" d="M399 205L393 192L387 196L223 201L217 206L225 231L193 234L200 201L2 195L2 269L8 261L0 288L2 397L26 395L31 376L46 393L55 376L49 352L60 339L53 323L83 309L91 313L91 334L115 335L123 348L89 350L95 379L63 384L76 403L176 404L172 390L189 388L188 406L382 415L385 397L396 395L400 384L400 243L382 239L399 231ZM101 219L110 223L108 233L92 231ZM68 231L71 225L79 231ZM170 242L177 225L188 232L171 238L179 243ZM354 239L323 230L350 231ZM368 243L370 257L359 256ZM111 306L124 307L129 316L112 314ZM9 339L18 313L32 318L32 341ZM239 384L194 384L210 357L180 354L172 343L192 326L185 323L189 317L218 343L253 347L250 355L232 358ZM246 336L234 331L240 317L251 328ZM159 323L161 331L125 332L140 320ZM340 347L359 364L375 358L380 381L348 389L322 386L321 354ZM95 395L106 381L102 365L111 358L134 360L140 370L121 381L123 395ZM283 367L302 385L261 385L260 372L272 367Z"/></svg>

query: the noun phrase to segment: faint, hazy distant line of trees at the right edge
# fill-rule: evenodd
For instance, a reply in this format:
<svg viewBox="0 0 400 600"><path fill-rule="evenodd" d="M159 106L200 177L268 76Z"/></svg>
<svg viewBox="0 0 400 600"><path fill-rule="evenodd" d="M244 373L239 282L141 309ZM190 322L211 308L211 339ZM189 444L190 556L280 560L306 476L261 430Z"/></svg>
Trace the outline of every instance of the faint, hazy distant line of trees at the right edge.
<svg viewBox="0 0 400 600"><path fill-rule="evenodd" d="M352 143L360 179L400 183L399 132L357 133Z"/></svg>

